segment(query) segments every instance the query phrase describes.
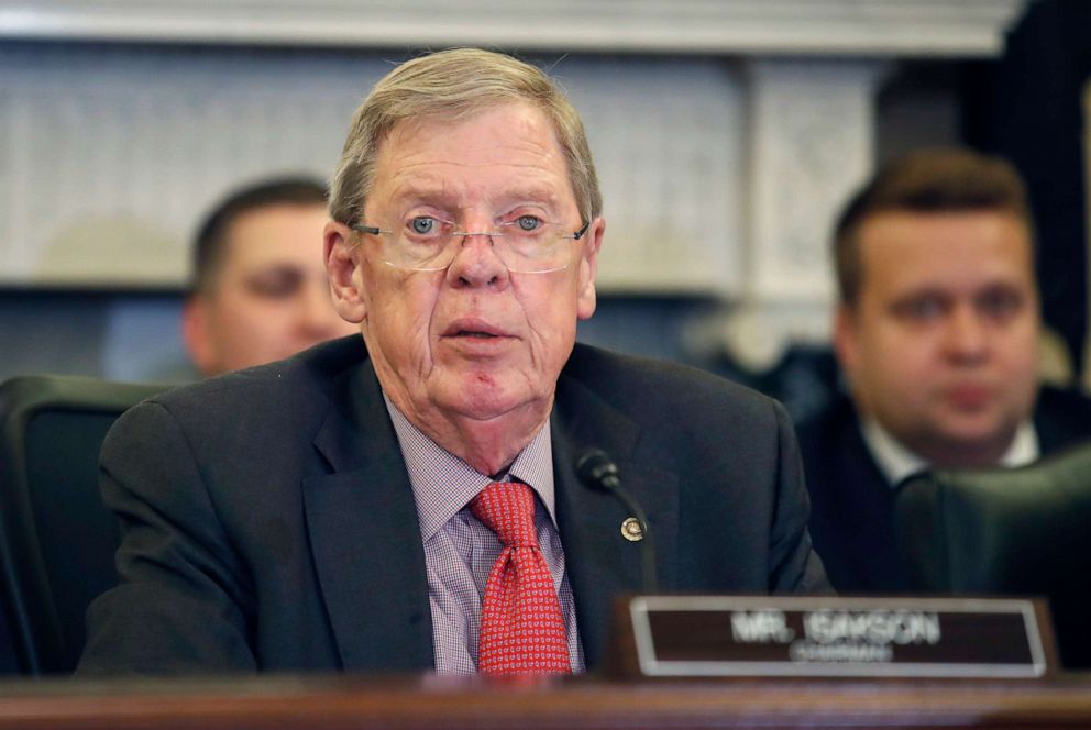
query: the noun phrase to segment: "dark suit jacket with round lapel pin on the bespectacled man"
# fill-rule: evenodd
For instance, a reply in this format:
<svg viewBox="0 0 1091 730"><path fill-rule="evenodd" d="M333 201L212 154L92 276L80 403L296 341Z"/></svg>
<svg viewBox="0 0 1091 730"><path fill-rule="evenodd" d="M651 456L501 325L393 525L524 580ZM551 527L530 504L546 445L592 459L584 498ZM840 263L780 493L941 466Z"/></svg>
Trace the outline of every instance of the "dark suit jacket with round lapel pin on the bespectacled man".
<svg viewBox="0 0 1091 730"><path fill-rule="evenodd" d="M641 588L628 512L573 473L591 445L648 513L662 589L827 589L774 401L576 345L551 429L588 667L614 598ZM80 674L433 666L416 505L360 338L129 411L103 446L102 490L124 527L122 583L88 611Z"/></svg>

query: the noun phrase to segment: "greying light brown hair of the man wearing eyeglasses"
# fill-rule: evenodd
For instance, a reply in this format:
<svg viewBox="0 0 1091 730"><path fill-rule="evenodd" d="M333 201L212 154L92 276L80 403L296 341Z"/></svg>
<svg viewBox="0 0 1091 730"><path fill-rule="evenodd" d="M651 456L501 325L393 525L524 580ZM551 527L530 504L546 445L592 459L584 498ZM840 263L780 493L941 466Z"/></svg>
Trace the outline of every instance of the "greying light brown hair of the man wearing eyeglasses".
<svg viewBox="0 0 1091 730"><path fill-rule="evenodd" d="M599 215L603 198L587 135L580 114L558 86L540 69L511 56L453 48L401 64L356 109L330 182L330 217L350 225L363 222L378 147L401 122L458 122L515 101L530 102L549 119L564 151L580 214L585 222Z"/></svg>

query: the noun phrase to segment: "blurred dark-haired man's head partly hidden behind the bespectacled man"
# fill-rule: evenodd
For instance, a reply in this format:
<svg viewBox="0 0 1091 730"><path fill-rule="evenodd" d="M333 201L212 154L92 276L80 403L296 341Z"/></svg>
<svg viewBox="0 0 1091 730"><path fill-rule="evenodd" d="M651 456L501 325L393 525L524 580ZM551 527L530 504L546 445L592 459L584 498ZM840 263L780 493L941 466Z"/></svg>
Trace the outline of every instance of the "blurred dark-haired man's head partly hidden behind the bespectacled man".
<svg viewBox="0 0 1091 730"><path fill-rule="evenodd" d="M201 375L262 365L355 328L322 261L326 188L285 178L238 190L201 225L183 336Z"/></svg>

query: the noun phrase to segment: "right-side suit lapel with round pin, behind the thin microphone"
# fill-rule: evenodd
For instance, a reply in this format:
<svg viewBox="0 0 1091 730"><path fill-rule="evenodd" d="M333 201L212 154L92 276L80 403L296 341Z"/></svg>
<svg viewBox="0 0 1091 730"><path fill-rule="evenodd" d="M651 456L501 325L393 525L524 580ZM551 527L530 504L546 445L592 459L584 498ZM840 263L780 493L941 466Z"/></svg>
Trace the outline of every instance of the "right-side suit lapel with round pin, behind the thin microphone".
<svg viewBox="0 0 1091 730"><path fill-rule="evenodd" d="M571 414L565 402L577 403ZM592 489L575 475L584 449L603 449L618 465L621 486L648 516L660 590L670 590L677 572L677 476L633 461L638 427L594 394L576 385L559 388L552 419L553 473L558 523L564 561L576 604L576 620L587 667L603 661L614 602L622 594L644 591L643 542L621 537L629 511L610 494ZM571 416L571 417L570 417Z"/></svg>

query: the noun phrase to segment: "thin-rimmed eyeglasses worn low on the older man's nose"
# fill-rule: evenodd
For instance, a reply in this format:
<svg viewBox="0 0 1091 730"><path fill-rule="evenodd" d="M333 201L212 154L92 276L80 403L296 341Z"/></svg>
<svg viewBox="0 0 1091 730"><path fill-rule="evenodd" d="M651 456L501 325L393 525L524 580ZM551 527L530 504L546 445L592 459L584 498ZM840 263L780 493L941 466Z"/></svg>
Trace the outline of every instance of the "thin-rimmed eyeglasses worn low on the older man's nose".
<svg viewBox="0 0 1091 730"><path fill-rule="evenodd" d="M350 225L353 231L384 236L384 263L414 272L441 272L451 265L459 248L472 235L488 236L497 257L509 272L548 274L566 268L569 241L578 241L591 221L574 233L565 233L561 223L543 221L537 215L497 224L495 231L459 231L452 221L431 215L406 219L399 231L374 225Z"/></svg>

